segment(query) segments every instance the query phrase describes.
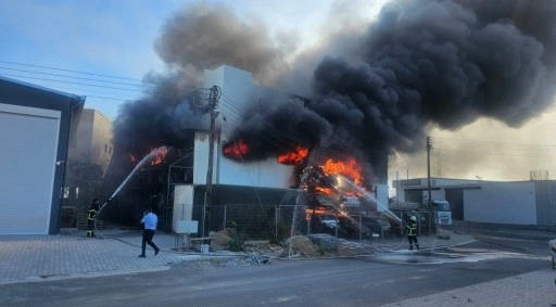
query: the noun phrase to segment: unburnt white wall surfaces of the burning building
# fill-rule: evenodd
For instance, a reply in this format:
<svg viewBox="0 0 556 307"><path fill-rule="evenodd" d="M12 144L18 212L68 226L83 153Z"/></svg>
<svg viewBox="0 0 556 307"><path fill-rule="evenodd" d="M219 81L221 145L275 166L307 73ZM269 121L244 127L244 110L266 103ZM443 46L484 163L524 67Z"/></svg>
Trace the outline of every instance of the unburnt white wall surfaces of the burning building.
<svg viewBox="0 0 556 307"><path fill-rule="evenodd" d="M219 112L216 126L219 128L219 141L215 148L213 183L248 186L260 188L289 188L294 167L278 163L277 157L258 162L239 162L224 156L223 145L239 140L231 139L231 132L239 126L243 112L249 107L266 107L266 98L283 93L253 84L252 74L230 66L220 66L205 71L204 87L218 86L222 97L218 101ZM226 119L224 119L226 118ZM195 137L193 182L205 184L208 162L208 138Z"/></svg>

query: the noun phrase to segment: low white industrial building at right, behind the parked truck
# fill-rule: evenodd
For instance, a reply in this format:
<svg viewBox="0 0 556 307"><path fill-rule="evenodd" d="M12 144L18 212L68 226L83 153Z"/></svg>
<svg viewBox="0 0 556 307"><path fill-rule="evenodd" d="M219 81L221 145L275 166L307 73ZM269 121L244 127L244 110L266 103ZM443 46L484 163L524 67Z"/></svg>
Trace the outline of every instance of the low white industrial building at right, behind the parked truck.
<svg viewBox="0 0 556 307"><path fill-rule="evenodd" d="M472 222L548 227L556 225L556 181L488 181L431 178L431 197L450 202L452 219ZM428 178L393 180L396 200L427 203Z"/></svg>

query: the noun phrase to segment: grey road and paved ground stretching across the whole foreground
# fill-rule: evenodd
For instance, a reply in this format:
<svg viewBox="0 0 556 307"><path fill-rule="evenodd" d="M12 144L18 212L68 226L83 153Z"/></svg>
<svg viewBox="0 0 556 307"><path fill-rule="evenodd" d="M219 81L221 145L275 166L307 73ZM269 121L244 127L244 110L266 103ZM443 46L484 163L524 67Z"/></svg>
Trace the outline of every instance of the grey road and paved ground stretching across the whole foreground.
<svg viewBox="0 0 556 307"><path fill-rule="evenodd" d="M469 238L454 233L452 241L471 242ZM275 260L250 267L230 266L233 260L220 256L225 265L215 267L203 255L173 253L170 235L159 234L155 242L163 252L140 259L138 232L100 240L79 234L0 236L0 305L416 307L556 302L544 239L490 233L488 240L479 236L473 243L439 248L451 244L421 238L421 254L404 251L399 240L384 241L392 246L386 250L402 251L381 254L386 257Z"/></svg>

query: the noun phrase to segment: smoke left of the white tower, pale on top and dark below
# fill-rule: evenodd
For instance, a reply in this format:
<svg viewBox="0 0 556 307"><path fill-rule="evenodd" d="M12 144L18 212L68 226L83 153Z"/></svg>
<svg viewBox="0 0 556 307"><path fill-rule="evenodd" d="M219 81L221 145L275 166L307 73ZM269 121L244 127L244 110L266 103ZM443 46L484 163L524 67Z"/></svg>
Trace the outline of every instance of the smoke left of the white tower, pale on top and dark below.
<svg viewBox="0 0 556 307"><path fill-rule="evenodd" d="M203 71L228 64L270 79L275 67L287 66L280 63L286 50L271 41L264 25L241 22L224 4L193 3L177 12L154 42L170 73L147 76L157 86L119 111L116 156L140 157L161 145L181 148L191 129L208 129L206 100L199 91Z"/></svg>

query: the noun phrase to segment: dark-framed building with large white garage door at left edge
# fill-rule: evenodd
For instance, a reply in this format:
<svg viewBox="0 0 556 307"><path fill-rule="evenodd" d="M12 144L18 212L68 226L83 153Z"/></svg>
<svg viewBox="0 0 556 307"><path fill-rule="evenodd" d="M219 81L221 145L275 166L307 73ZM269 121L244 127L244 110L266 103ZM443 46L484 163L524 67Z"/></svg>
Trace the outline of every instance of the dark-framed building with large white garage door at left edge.
<svg viewBox="0 0 556 307"><path fill-rule="evenodd" d="M0 234L56 234L84 97L0 76Z"/></svg>

